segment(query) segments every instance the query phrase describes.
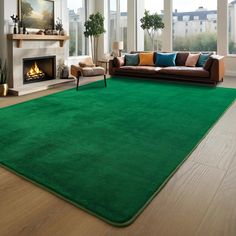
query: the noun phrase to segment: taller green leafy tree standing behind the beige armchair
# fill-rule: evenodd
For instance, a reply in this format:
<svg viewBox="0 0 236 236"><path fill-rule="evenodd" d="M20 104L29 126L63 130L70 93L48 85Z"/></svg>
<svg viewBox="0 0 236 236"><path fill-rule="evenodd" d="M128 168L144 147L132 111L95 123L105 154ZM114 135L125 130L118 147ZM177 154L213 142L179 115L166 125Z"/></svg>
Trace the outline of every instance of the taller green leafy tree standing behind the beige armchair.
<svg viewBox="0 0 236 236"><path fill-rule="evenodd" d="M100 12L91 14L89 19L85 21L84 26L84 36L90 38L93 62L97 64L99 36L106 32L104 29L104 17Z"/></svg>

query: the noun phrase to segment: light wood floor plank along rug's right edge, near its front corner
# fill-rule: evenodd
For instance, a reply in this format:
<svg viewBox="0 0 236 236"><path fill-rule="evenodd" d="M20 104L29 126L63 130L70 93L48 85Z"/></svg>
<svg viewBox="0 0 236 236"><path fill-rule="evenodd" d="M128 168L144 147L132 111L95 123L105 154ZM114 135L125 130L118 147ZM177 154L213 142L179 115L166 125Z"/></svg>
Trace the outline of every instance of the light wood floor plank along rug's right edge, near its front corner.
<svg viewBox="0 0 236 236"><path fill-rule="evenodd" d="M186 162L134 224L111 228L107 235L193 235L224 174Z"/></svg>

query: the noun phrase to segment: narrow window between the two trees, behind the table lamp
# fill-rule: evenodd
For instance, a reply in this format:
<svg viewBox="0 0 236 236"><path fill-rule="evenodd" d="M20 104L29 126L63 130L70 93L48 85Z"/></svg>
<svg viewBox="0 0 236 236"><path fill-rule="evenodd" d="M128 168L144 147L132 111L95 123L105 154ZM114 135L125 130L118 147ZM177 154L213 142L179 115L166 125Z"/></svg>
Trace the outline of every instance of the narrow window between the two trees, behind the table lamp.
<svg viewBox="0 0 236 236"><path fill-rule="evenodd" d="M127 0L108 0L108 48L112 51L112 43L123 41L127 52Z"/></svg>

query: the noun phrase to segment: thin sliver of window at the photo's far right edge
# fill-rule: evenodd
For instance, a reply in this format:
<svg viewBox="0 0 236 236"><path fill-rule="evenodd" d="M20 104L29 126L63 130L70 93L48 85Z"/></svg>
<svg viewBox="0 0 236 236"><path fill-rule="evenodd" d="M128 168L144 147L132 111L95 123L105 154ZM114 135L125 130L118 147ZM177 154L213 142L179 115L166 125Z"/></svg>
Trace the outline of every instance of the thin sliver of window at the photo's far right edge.
<svg viewBox="0 0 236 236"><path fill-rule="evenodd" d="M236 1L228 0L229 54L236 54Z"/></svg>

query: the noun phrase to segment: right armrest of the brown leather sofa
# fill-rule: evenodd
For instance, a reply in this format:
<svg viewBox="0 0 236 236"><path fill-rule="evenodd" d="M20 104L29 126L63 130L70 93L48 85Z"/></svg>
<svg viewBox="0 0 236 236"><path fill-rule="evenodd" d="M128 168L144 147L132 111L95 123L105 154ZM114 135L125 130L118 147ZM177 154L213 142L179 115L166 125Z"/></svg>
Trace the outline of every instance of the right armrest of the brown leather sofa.
<svg viewBox="0 0 236 236"><path fill-rule="evenodd" d="M210 68L210 79L215 82L223 81L225 74L224 57L219 55L213 55L212 65Z"/></svg>

